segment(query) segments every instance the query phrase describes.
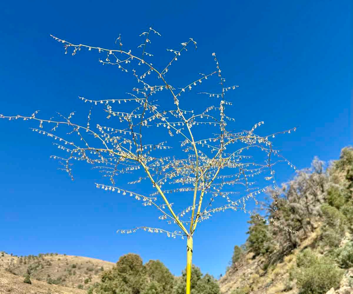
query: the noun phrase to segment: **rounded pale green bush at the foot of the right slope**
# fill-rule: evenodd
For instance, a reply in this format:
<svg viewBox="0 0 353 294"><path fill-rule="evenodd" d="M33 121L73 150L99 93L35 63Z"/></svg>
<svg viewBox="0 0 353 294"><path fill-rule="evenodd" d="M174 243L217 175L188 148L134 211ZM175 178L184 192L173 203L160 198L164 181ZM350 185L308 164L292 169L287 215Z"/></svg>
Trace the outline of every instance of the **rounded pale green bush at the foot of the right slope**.
<svg viewBox="0 0 353 294"><path fill-rule="evenodd" d="M297 265L292 275L297 278L297 287L303 294L324 294L340 285L343 271L330 259L316 257L310 249L299 254Z"/></svg>

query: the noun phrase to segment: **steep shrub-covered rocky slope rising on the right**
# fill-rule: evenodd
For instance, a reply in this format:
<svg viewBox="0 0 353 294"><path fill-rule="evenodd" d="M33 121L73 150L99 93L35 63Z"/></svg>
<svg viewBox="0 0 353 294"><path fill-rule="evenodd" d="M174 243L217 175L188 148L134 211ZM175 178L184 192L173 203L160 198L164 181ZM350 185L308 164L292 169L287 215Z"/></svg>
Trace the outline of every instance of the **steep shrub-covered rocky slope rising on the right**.
<svg viewBox="0 0 353 294"><path fill-rule="evenodd" d="M274 201L264 204L262 217L276 216L298 233L251 216L247 242L234 247L219 281L221 293L353 293L353 148L327 169L315 159L280 194L279 210Z"/></svg>

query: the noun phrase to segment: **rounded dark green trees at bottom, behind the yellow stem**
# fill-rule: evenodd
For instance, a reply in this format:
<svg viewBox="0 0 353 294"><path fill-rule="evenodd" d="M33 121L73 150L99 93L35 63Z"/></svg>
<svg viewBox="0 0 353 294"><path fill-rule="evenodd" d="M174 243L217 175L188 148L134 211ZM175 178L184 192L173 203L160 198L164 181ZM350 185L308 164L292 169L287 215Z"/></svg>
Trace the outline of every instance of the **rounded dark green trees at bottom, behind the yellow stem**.
<svg viewBox="0 0 353 294"><path fill-rule="evenodd" d="M209 274L202 275L193 265L191 277L192 294L219 294L217 281ZM181 277L174 277L159 260L143 264L137 254L120 257L116 265L104 271L101 282L95 283L88 294L184 294L186 289L186 270Z"/></svg>

